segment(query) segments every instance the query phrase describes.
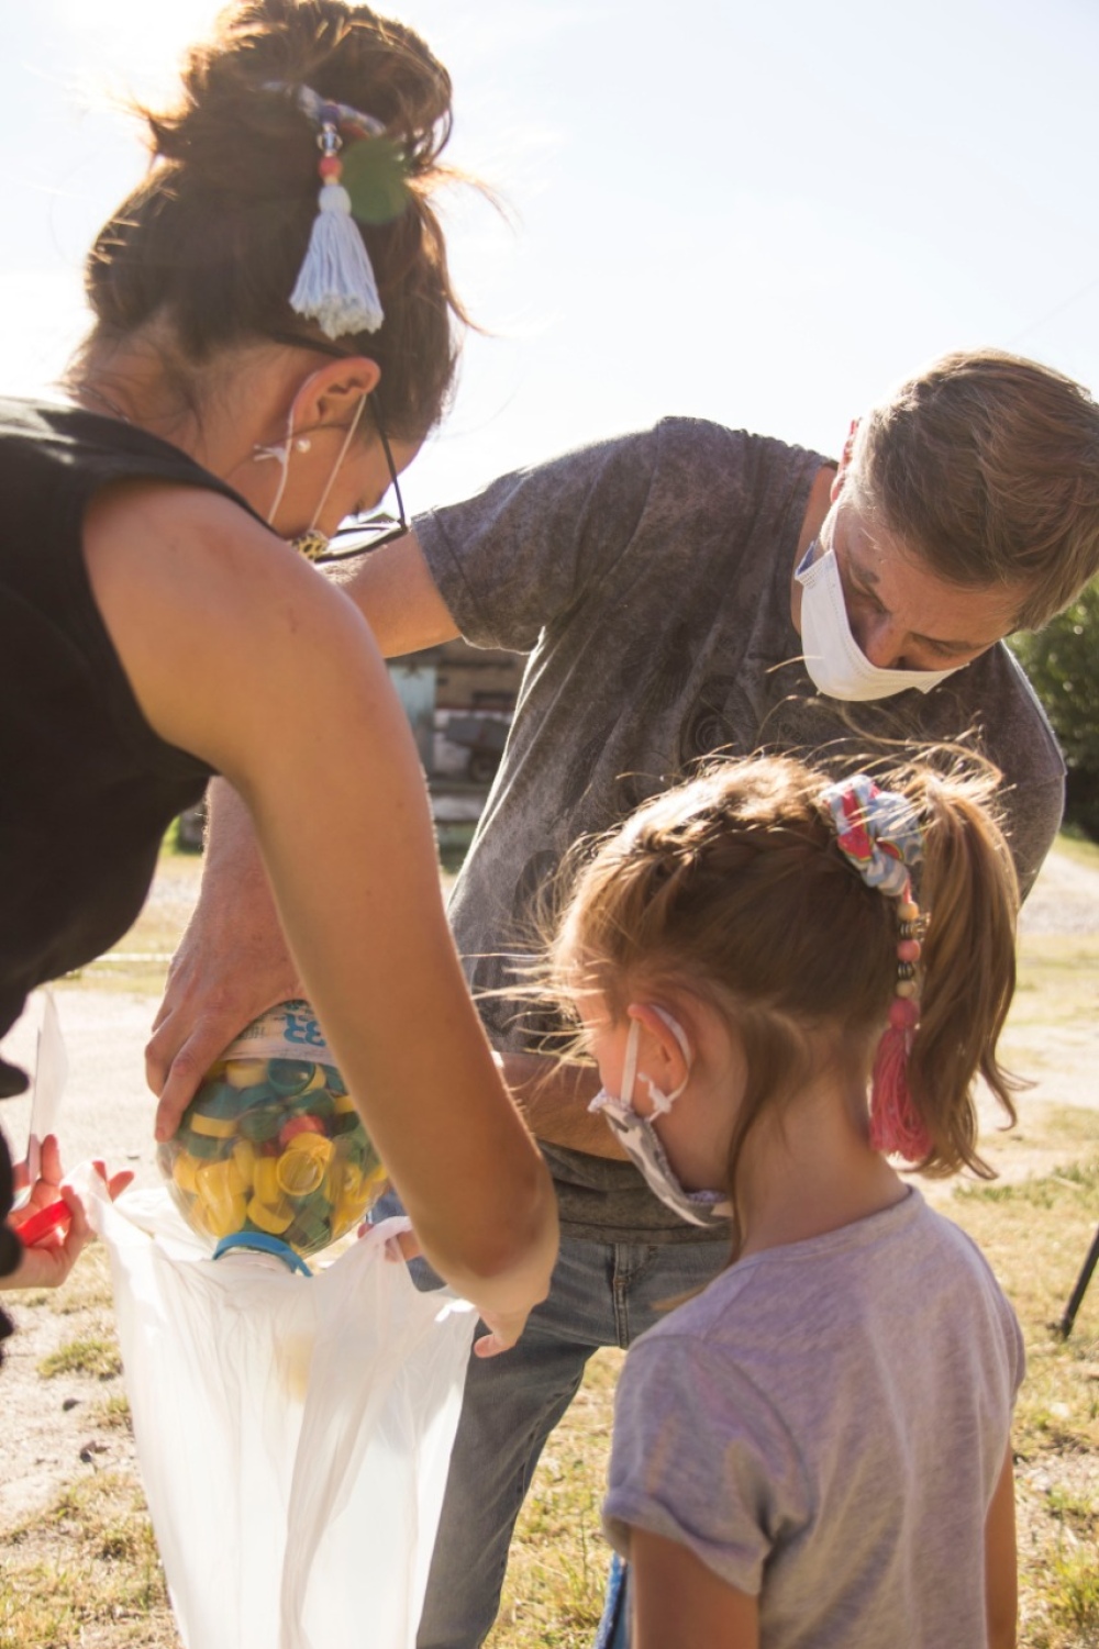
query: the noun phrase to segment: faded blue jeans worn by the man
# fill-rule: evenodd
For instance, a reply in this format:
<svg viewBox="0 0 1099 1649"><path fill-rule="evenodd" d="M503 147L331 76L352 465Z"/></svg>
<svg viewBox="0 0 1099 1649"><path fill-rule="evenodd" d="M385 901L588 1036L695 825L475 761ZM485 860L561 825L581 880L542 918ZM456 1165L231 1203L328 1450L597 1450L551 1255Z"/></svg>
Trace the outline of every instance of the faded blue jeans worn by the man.
<svg viewBox="0 0 1099 1649"><path fill-rule="evenodd" d="M375 1217L396 1212L384 1199ZM629 1346L668 1298L723 1268L723 1242L601 1243L563 1240L548 1299L518 1346L470 1357L450 1476L416 1649L480 1649L500 1608L515 1520L543 1445L601 1346ZM422 1261L417 1288L437 1286Z"/></svg>

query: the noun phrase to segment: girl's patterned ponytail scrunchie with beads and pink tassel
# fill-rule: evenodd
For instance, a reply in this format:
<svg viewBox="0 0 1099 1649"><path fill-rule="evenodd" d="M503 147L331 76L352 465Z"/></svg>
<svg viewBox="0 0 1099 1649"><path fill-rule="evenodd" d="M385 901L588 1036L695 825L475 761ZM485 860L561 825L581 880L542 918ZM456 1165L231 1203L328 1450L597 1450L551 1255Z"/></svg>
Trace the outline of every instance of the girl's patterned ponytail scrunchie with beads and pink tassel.
<svg viewBox="0 0 1099 1649"><path fill-rule="evenodd" d="M822 801L832 815L840 851L868 887L898 899L896 996L870 1078L870 1143L886 1156L921 1163L932 1139L908 1087L908 1057L919 1024L916 965L926 918L913 899L911 866L924 856L916 811L906 796L880 790L866 773L828 785Z"/></svg>

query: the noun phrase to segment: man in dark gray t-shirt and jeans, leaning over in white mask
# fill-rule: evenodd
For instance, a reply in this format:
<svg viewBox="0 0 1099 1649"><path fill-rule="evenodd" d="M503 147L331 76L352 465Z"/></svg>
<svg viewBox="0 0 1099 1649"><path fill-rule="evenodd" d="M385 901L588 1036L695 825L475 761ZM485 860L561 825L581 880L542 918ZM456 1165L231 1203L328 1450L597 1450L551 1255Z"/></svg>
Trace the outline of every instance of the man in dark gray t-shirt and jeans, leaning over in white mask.
<svg viewBox="0 0 1099 1649"><path fill-rule="evenodd" d="M563 853L713 752L851 763L871 737L972 734L1005 773L1028 887L1063 765L1000 640L1097 567L1099 411L1059 374L983 353L904 384L838 465L670 419L424 516L347 580L389 656L455 633L530 653L452 920L474 986L503 993L482 1012L553 1166L563 1242L518 1346L470 1362L419 1649L483 1642L530 1476L591 1352L629 1344L724 1263L721 1232L682 1225L587 1115L586 1073L531 1052L553 1027L507 999ZM221 787L149 1049L162 1106L182 1110L239 1026L294 994Z"/></svg>

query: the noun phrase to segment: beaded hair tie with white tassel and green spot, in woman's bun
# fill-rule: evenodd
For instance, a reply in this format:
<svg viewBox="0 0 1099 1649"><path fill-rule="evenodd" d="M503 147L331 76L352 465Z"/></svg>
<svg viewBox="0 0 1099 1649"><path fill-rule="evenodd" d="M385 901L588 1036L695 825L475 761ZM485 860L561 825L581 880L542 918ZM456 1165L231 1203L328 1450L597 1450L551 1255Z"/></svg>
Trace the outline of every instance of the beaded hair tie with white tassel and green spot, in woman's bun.
<svg viewBox="0 0 1099 1649"><path fill-rule="evenodd" d="M284 92L294 97L299 109L317 127L320 148L320 193L317 216L309 237L309 249L290 294L290 308L305 320L315 320L328 338L345 333L378 331L384 320L378 282L355 218L366 223L386 223L404 211L404 170L398 147L386 139L384 124L371 114L332 102L312 86L289 86L267 81L264 91ZM358 209L351 193L343 186L345 160L340 158L343 134L351 140L366 140L361 147L373 150L366 165L358 163L356 173L365 175L366 191L373 206ZM351 153L360 148L355 143ZM378 201L381 200L381 206Z"/></svg>

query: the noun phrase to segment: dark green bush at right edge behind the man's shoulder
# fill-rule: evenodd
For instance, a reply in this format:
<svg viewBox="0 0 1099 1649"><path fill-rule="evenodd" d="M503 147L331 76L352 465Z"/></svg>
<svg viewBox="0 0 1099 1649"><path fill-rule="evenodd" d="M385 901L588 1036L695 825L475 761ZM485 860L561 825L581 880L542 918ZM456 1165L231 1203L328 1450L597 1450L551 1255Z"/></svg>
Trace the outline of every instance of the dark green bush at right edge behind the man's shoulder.
<svg viewBox="0 0 1099 1649"><path fill-rule="evenodd" d="M1066 820L1099 841L1099 579L1036 635L1012 646L1068 763Z"/></svg>

